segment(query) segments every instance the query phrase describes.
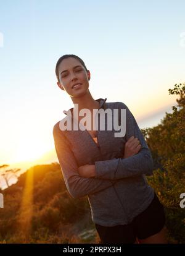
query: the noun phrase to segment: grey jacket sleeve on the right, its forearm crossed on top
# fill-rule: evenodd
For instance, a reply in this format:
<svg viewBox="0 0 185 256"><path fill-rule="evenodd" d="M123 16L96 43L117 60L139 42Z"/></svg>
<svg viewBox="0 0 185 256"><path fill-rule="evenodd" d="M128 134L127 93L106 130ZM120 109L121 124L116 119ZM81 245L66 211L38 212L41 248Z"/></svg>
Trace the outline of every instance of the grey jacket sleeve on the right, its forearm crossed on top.
<svg viewBox="0 0 185 256"><path fill-rule="evenodd" d="M131 136L137 137L141 143L141 150L138 154L125 159L114 158L112 160L96 161L95 177L97 178L115 180L141 174L152 175L154 163L144 136L128 107L121 103L121 108L126 109L126 142Z"/></svg>

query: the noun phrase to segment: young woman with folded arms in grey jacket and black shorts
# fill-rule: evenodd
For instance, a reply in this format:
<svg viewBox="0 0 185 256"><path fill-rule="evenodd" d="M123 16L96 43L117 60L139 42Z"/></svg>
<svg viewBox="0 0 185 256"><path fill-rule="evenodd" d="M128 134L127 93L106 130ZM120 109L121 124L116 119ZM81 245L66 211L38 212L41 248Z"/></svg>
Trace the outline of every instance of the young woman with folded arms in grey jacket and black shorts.
<svg viewBox="0 0 185 256"><path fill-rule="evenodd" d="M102 243L166 243L163 206L145 177L152 174L152 156L133 114L122 102L92 98L91 74L78 56L62 56L55 73L57 85L74 104L53 129L68 192L74 198L88 196ZM119 111L116 117L115 109ZM110 120L123 123L123 109L126 132L118 137L114 126L107 128L107 120L109 116L109 124ZM99 111L109 113L107 119ZM105 129L97 127L99 121Z"/></svg>

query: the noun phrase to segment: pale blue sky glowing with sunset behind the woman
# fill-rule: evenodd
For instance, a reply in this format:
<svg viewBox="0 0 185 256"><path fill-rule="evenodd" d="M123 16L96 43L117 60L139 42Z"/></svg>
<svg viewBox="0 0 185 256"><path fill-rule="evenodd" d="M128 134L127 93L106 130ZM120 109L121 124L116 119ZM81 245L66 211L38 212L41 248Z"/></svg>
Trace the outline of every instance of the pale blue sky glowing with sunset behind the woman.
<svg viewBox="0 0 185 256"><path fill-rule="evenodd" d="M52 128L70 96L55 64L76 54L94 99L122 101L139 127L170 112L184 82L184 1L0 1L0 165L35 161L54 148Z"/></svg>

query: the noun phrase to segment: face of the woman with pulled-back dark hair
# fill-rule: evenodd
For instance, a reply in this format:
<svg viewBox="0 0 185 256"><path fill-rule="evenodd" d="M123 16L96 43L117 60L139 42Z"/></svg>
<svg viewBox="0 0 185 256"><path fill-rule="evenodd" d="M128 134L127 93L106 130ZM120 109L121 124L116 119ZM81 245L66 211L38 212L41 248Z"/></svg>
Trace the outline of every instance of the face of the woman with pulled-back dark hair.
<svg viewBox="0 0 185 256"><path fill-rule="evenodd" d="M60 62L57 85L68 95L78 97L84 95L89 88L90 72L75 58L67 58ZM74 87L75 84L80 84Z"/></svg>

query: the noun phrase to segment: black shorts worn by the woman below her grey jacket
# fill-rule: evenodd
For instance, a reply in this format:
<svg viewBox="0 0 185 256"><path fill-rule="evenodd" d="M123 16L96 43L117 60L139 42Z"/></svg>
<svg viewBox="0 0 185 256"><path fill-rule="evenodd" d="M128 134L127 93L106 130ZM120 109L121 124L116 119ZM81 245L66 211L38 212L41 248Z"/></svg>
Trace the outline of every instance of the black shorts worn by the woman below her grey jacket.
<svg viewBox="0 0 185 256"><path fill-rule="evenodd" d="M138 239L146 239L160 232L164 225L164 208L156 194L149 207L127 225L105 227L95 224L102 244L134 244L137 237Z"/></svg>

